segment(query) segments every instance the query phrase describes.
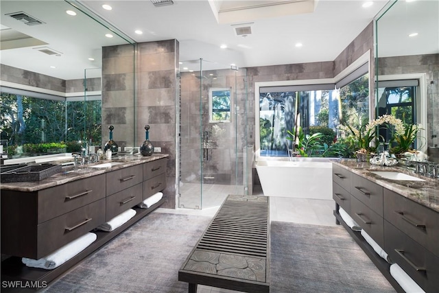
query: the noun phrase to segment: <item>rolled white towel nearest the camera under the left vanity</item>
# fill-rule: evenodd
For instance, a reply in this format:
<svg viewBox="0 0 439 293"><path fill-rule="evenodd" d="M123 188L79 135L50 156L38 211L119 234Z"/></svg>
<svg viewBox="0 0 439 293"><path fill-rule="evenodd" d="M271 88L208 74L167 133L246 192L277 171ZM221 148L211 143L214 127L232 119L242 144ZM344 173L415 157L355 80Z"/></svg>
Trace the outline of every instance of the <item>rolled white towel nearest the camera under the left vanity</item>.
<svg viewBox="0 0 439 293"><path fill-rule="evenodd" d="M53 270L54 268L58 268L62 263L65 263L75 255L78 255L82 250L84 250L87 246L92 244L96 240L95 233L86 233L79 237L78 239L73 240L69 244L58 248L54 253L47 255L46 257L40 259L28 259L27 257L23 257L21 261L29 267L32 268L44 268L46 270Z"/></svg>

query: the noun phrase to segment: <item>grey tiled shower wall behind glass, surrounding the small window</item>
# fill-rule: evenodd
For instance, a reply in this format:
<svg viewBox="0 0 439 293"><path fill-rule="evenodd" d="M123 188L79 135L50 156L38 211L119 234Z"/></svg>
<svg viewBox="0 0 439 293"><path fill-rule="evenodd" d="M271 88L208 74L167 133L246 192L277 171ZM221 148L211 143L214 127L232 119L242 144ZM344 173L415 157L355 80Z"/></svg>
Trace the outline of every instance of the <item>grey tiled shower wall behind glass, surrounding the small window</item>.
<svg viewBox="0 0 439 293"><path fill-rule="evenodd" d="M200 72L181 73L181 180L200 183L201 160L202 176L207 177L203 183L242 185L243 151L247 143L246 69L203 71L202 75L200 104ZM230 88L230 122L209 123L211 88ZM201 149L203 132L208 132L211 145L204 157Z"/></svg>

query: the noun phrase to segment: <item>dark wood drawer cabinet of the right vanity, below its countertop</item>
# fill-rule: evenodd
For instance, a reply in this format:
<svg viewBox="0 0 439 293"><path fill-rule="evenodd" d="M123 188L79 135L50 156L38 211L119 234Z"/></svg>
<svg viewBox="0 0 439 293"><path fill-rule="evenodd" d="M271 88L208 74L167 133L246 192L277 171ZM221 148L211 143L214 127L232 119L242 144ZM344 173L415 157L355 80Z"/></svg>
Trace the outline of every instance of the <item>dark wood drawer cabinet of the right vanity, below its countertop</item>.
<svg viewBox="0 0 439 293"><path fill-rule="evenodd" d="M357 172L358 173L358 172ZM342 207L425 292L439 289L439 213L391 191L350 169L333 164L335 217ZM390 264L367 244L359 232L346 230L397 291Z"/></svg>

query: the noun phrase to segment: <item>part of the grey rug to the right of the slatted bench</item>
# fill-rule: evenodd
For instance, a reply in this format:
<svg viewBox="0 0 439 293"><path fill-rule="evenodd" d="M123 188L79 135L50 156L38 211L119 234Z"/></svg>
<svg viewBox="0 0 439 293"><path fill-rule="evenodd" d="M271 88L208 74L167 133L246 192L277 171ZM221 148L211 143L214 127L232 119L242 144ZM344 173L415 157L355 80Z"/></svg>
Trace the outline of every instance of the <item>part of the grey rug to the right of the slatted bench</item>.
<svg viewBox="0 0 439 293"><path fill-rule="evenodd" d="M395 292L342 226L272 222L270 292Z"/></svg>

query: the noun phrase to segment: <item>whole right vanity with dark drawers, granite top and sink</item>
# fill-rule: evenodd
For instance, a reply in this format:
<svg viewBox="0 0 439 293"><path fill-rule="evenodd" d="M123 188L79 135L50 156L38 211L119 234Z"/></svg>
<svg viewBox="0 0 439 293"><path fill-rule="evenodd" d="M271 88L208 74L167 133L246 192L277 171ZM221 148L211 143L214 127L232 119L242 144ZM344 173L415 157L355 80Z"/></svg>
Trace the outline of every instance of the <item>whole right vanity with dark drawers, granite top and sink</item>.
<svg viewBox="0 0 439 293"><path fill-rule="evenodd" d="M439 290L439 180L407 167L333 163L334 215L398 292L390 263L340 216L342 207L425 292Z"/></svg>

